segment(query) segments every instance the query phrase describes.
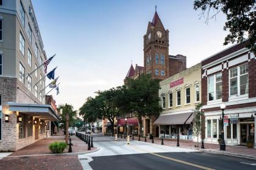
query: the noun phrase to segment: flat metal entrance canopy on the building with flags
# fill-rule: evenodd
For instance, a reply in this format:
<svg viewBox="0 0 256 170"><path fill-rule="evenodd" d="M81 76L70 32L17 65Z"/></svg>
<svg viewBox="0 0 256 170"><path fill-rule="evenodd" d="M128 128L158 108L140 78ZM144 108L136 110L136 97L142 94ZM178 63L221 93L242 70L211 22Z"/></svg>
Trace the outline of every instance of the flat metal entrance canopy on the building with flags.
<svg viewBox="0 0 256 170"><path fill-rule="evenodd" d="M32 117L43 117L46 120L59 121L60 118L49 104L7 103L10 111L21 112Z"/></svg>

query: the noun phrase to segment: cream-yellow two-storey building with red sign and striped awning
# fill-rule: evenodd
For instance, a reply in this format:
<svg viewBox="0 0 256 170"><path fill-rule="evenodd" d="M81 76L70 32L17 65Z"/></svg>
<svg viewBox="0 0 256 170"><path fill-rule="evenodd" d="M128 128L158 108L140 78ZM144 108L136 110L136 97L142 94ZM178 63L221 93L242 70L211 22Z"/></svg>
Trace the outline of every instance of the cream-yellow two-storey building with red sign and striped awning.
<svg viewBox="0 0 256 170"><path fill-rule="evenodd" d="M158 133L166 138L196 140L193 118L196 104L201 103L201 63L160 82L159 97L163 112L154 122Z"/></svg>

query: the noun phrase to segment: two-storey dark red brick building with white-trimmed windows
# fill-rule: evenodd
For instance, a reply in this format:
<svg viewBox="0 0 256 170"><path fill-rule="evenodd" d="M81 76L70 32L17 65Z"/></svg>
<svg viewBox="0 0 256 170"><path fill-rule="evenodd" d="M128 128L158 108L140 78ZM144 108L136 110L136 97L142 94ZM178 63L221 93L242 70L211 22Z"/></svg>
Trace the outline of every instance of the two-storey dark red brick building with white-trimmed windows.
<svg viewBox="0 0 256 170"><path fill-rule="evenodd" d="M246 42L235 44L202 61L202 103L205 112L205 139L218 143L224 110L226 144L245 145L255 141L256 60Z"/></svg>

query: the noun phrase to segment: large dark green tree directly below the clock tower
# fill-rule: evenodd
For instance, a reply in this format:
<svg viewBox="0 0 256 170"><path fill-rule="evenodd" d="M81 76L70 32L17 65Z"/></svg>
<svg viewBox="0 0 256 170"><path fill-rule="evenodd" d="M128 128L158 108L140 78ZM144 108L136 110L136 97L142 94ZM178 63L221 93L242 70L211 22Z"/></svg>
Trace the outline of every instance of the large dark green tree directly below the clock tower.
<svg viewBox="0 0 256 170"><path fill-rule="evenodd" d="M142 131L142 117L157 117L162 112L159 89L159 80L152 79L150 75L141 75L135 80L129 78L126 86L121 89L119 109L126 114L135 114L139 123L139 135Z"/></svg>

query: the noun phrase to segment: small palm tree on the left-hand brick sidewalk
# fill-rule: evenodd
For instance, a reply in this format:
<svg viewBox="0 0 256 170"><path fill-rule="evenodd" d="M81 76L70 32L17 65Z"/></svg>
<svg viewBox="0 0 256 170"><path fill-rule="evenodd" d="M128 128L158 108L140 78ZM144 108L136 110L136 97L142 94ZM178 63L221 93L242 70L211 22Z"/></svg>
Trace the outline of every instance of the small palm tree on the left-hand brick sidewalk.
<svg viewBox="0 0 256 170"><path fill-rule="evenodd" d="M68 144L68 127L73 126L76 118L76 110L73 110L73 106L70 104L60 105L57 108L60 111L60 123L65 127L66 144Z"/></svg>

